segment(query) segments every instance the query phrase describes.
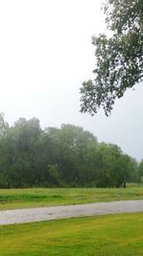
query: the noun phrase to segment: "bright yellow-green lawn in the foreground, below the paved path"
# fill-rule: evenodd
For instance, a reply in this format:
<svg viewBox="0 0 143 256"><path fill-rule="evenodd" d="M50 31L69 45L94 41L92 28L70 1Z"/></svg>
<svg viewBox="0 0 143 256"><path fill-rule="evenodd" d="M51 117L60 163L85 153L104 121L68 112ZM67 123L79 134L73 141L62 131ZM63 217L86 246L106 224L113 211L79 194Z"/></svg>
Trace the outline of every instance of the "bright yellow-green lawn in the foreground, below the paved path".
<svg viewBox="0 0 143 256"><path fill-rule="evenodd" d="M0 226L0 256L142 256L143 214Z"/></svg>

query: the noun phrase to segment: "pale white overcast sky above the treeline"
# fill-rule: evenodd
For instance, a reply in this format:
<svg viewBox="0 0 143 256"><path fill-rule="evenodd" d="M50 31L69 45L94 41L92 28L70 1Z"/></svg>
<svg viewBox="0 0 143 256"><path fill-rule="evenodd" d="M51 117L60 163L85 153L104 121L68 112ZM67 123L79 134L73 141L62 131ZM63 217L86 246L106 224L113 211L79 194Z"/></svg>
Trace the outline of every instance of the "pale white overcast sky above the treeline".
<svg viewBox="0 0 143 256"><path fill-rule="evenodd" d="M92 35L105 30L100 0L0 1L0 112L11 124L37 117L42 128L73 124L98 141L143 158L143 84L103 111L81 114L79 88L92 78Z"/></svg>

